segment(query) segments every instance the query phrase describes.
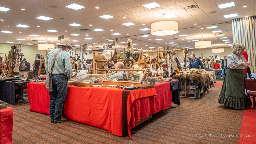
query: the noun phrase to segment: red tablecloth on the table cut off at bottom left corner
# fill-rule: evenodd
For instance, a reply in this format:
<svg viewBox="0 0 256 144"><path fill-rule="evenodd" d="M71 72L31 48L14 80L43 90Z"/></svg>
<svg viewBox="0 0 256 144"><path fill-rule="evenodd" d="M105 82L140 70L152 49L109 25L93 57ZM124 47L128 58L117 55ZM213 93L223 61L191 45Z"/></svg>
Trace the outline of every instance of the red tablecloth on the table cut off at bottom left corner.
<svg viewBox="0 0 256 144"><path fill-rule="evenodd" d="M0 143L13 143L13 108L0 110Z"/></svg>

